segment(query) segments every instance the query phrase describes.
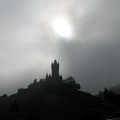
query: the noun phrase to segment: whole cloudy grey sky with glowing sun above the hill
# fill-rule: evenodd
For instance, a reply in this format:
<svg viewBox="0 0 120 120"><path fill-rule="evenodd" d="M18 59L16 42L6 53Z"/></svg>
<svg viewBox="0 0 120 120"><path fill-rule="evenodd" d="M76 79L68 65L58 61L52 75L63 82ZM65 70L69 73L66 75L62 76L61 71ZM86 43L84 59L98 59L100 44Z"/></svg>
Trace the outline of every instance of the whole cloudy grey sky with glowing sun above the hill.
<svg viewBox="0 0 120 120"><path fill-rule="evenodd" d="M119 0L0 0L0 95L44 78L54 59L63 77L73 76L84 91L96 94L119 84L119 5Z"/></svg>

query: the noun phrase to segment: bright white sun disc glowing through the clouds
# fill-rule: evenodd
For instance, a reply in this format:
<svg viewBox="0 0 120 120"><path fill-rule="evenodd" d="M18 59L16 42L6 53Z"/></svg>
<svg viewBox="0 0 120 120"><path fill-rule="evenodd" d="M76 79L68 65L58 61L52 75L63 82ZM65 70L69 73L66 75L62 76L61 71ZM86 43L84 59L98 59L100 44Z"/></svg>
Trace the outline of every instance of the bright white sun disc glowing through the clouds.
<svg viewBox="0 0 120 120"><path fill-rule="evenodd" d="M64 18L57 18L53 21L54 31L61 37L71 38L72 32L68 21Z"/></svg>

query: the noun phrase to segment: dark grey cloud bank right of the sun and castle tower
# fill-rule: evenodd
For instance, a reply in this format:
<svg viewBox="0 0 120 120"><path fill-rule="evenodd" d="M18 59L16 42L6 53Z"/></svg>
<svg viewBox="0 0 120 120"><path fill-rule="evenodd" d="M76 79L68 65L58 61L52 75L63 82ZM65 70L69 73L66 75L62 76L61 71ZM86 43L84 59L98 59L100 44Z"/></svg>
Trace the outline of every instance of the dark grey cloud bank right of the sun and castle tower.
<svg viewBox="0 0 120 120"><path fill-rule="evenodd" d="M69 74L73 74L86 91L97 93L118 84L120 75L119 1L99 1L79 19L74 17L76 39L61 43Z"/></svg>

